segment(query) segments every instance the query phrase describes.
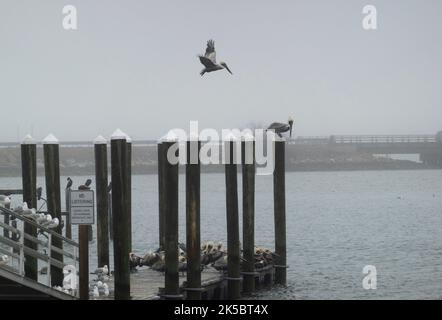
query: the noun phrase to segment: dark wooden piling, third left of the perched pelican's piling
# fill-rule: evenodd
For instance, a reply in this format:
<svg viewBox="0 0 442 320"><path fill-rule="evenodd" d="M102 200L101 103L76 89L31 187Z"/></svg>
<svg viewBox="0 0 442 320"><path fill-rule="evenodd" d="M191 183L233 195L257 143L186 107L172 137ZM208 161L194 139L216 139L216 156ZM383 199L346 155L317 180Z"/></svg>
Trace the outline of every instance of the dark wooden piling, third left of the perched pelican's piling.
<svg viewBox="0 0 442 320"><path fill-rule="evenodd" d="M187 299L201 300L200 237L200 141L187 142L186 164L186 249Z"/></svg>

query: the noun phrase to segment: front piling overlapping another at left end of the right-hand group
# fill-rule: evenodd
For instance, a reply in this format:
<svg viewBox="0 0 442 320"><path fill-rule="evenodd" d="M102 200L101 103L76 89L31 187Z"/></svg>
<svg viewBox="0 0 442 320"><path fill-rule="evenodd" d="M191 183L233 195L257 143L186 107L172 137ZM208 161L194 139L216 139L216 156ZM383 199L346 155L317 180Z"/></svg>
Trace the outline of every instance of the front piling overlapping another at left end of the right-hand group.
<svg viewBox="0 0 442 320"><path fill-rule="evenodd" d="M178 142L168 140L163 142L165 154L169 148L177 148ZM178 152L178 150L177 150ZM164 298L179 298L179 274L178 274L178 163L165 162L164 188L166 190L164 201L164 231L166 251L166 272L164 285Z"/></svg>

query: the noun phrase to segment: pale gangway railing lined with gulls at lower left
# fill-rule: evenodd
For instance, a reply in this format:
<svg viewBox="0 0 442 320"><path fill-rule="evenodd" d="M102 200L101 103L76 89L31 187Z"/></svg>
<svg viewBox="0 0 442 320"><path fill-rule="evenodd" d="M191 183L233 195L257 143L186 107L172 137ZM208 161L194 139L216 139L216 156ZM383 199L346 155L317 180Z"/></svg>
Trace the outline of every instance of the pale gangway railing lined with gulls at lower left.
<svg viewBox="0 0 442 320"><path fill-rule="evenodd" d="M79 247L78 243L48 229L34 220L26 218L14 211L0 207L0 216L8 217L4 219L8 223L0 221L0 255L5 255L7 261L0 263L0 268L5 268L25 277L25 256L37 260L38 276L37 281L48 287L53 287L51 283L51 266L68 271L79 270ZM24 231L25 223L35 227L37 237ZM54 239L61 246L54 246ZM27 241L25 241L27 240ZM29 245L32 243L32 245ZM56 253L53 255L53 253ZM60 257L59 259L57 258ZM77 272L75 272L77 273ZM77 276L77 274L72 275ZM72 296L78 297L78 290L65 290Z"/></svg>

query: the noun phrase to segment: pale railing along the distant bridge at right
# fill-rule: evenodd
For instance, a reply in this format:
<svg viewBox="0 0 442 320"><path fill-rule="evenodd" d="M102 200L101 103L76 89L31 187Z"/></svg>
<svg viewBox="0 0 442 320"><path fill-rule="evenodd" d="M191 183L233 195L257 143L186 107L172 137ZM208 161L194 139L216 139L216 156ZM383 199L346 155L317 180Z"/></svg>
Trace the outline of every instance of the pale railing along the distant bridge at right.
<svg viewBox="0 0 442 320"><path fill-rule="evenodd" d="M330 136L331 143L421 143L436 142L435 135L339 135Z"/></svg>

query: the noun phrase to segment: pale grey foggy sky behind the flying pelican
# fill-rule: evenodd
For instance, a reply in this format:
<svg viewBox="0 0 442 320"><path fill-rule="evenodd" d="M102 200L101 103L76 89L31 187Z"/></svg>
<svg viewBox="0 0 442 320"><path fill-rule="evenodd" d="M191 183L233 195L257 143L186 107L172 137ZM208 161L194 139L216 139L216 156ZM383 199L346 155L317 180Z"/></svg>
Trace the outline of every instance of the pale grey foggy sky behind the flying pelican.
<svg viewBox="0 0 442 320"><path fill-rule="evenodd" d="M78 30L62 28L75 5ZM362 8L378 30L362 29ZM442 130L441 1L0 0L0 141L92 140L117 127L296 135ZM201 77L215 40L233 72Z"/></svg>

